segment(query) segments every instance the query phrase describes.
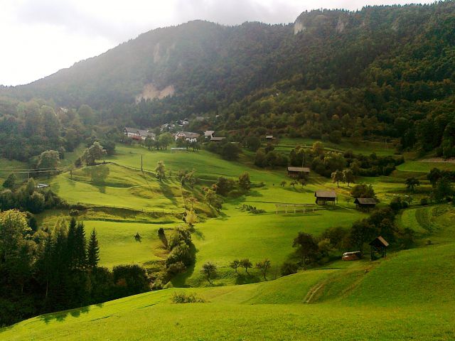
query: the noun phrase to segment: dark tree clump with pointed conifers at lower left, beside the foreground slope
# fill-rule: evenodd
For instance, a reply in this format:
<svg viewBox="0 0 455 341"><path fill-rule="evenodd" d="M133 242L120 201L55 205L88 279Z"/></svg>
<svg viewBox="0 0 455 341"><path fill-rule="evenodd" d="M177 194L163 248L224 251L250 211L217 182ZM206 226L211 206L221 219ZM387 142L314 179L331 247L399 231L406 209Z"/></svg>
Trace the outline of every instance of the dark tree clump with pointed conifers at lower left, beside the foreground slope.
<svg viewBox="0 0 455 341"><path fill-rule="evenodd" d="M88 240L87 240L88 239ZM31 229L25 213L0 213L0 325L149 290L137 265L99 266L95 229L72 218L53 229Z"/></svg>

